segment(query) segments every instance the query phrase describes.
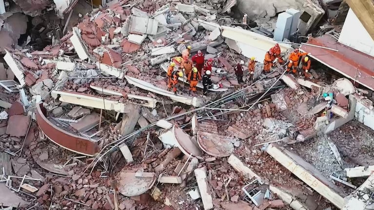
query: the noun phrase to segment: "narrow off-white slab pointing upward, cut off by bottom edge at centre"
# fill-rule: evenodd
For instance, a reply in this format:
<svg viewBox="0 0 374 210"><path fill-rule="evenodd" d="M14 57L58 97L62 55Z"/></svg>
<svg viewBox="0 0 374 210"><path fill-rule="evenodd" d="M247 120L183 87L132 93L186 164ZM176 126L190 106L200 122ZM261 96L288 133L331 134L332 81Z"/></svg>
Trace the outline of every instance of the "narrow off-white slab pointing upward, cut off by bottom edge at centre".
<svg viewBox="0 0 374 210"><path fill-rule="evenodd" d="M204 206L204 210L213 209L213 199L212 194L208 189L208 181L206 176L206 167L195 169L195 176L197 181L197 186L200 191L202 204Z"/></svg>

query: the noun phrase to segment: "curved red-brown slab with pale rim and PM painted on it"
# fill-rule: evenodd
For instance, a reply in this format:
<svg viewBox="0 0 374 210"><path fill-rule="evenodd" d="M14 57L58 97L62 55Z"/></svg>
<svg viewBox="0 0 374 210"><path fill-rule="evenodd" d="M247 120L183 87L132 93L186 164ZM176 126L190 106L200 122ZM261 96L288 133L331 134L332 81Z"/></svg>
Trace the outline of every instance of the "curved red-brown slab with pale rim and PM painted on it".
<svg viewBox="0 0 374 210"><path fill-rule="evenodd" d="M36 115L39 128L51 141L66 150L87 156L94 156L98 152L98 142L60 129L47 119L46 113L42 103L37 104Z"/></svg>

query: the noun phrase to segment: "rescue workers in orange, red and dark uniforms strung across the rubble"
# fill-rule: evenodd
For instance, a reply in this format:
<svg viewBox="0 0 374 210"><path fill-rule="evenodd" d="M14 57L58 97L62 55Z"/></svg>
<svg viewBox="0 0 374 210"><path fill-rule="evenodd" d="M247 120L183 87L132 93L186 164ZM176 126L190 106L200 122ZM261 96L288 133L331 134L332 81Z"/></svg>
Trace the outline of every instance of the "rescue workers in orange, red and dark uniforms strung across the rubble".
<svg viewBox="0 0 374 210"><path fill-rule="evenodd" d="M197 83L201 79L203 84L203 95L206 95L208 89L212 88L211 74L213 59L209 58L207 62L205 62L204 55L200 50L197 51L197 54L193 56L192 59L190 59L191 49L191 46L188 46L182 51L182 59L180 60L179 69L174 69L174 67L176 66L175 62L171 62L168 67L168 88L173 88L175 95L177 95L178 78L183 78L184 75L187 76L187 81L190 84L189 95L191 94L191 91L193 93L196 93ZM304 76L309 77L308 72L311 67L311 60L307 55L308 53L301 53L299 52L299 49L296 48L288 58L287 72L292 72L296 75L298 71L299 60L301 58ZM249 79L251 81L253 81L255 78L256 62L257 60L255 57L251 57L251 59L248 61L248 73ZM277 63L279 63L280 65L284 64L284 60L281 57L279 44L276 44L274 47L270 48L268 52L266 52L263 71L265 73L270 72L271 68ZM240 60L240 62L237 63L236 67L234 68L237 82L239 84L244 82L244 64L244 60Z"/></svg>

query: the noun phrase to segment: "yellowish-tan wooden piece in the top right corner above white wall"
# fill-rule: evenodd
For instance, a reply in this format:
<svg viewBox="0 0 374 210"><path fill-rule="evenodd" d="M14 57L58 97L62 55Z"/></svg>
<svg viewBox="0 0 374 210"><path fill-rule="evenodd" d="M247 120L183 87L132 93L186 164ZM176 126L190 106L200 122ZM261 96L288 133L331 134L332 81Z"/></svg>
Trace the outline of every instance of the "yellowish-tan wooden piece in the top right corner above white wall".
<svg viewBox="0 0 374 210"><path fill-rule="evenodd" d="M347 3L374 40L374 1L347 0Z"/></svg>

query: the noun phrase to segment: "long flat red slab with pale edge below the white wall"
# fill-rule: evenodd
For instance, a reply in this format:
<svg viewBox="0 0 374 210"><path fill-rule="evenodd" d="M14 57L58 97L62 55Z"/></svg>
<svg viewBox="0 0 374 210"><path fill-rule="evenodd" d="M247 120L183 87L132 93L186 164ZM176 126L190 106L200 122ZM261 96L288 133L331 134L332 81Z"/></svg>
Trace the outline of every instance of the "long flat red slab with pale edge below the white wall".
<svg viewBox="0 0 374 210"><path fill-rule="evenodd" d="M374 76L374 57L341 44L330 35L310 38L308 43L338 50L338 52L335 52L307 45L300 47L301 50L311 53L310 57L355 80L357 83L374 90L374 78L372 77Z"/></svg>

